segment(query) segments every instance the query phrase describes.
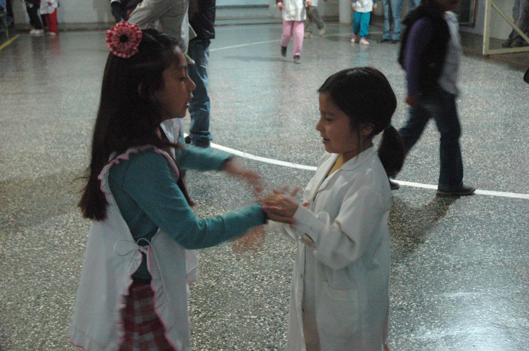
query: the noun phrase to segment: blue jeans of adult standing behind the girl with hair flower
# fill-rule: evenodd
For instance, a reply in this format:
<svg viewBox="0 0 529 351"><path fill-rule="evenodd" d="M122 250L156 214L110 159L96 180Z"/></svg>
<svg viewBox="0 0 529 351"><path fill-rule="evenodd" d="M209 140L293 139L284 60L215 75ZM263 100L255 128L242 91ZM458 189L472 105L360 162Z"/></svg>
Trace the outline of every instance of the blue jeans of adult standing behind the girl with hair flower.
<svg viewBox="0 0 529 351"><path fill-rule="evenodd" d="M207 95L207 62L209 58L209 42L202 40L191 40L187 54L195 61L195 65L190 65L189 78L197 86L193 91L193 98L189 102L189 113L191 114L191 126L189 137L191 144L208 147L209 141L213 140L209 133L209 96Z"/></svg>

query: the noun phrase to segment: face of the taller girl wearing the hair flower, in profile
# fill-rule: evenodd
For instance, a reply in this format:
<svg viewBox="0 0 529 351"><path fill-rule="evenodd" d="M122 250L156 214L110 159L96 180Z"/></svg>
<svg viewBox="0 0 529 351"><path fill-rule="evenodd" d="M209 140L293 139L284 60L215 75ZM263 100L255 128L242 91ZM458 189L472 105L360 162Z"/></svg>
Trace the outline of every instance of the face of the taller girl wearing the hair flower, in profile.
<svg viewBox="0 0 529 351"><path fill-rule="evenodd" d="M183 118L193 97L195 83L187 75L187 61L182 52L177 54L178 60L163 71L163 87L154 93L160 104L163 121L171 118Z"/></svg>

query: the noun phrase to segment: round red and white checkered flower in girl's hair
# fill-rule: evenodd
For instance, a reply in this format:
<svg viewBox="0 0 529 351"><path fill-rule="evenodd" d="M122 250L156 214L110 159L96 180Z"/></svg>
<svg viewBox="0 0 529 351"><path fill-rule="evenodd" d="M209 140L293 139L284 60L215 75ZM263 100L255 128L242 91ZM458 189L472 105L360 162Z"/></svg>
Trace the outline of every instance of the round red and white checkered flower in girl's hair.
<svg viewBox="0 0 529 351"><path fill-rule="evenodd" d="M138 53L142 32L137 24L117 22L106 31L106 45L115 56L128 59Z"/></svg>

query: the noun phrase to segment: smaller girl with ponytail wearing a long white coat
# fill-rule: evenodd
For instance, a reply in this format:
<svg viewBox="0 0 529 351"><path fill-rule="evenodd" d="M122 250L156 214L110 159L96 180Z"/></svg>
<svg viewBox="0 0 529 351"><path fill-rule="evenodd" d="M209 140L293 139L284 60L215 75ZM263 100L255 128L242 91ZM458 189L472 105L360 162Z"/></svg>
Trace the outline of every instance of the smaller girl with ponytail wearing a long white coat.
<svg viewBox="0 0 529 351"><path fill-rule="evenodd" d="M388 175L404 161L391 126L397 100L386 77L369 67L335 73L318 93L316 130L326 153L303 203L295 191L262 200L268 214L296 221L276 226L297 242L287 351L381 351L389 310Z"/></svg>

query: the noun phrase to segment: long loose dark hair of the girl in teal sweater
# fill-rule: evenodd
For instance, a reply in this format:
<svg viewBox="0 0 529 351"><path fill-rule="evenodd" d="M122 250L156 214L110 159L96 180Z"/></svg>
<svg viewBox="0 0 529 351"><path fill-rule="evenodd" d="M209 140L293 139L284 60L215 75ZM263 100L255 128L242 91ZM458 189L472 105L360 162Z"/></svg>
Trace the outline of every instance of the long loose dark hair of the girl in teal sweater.
<svg viewBox="0 0 529 351"><path fill-rule="evenodd" d="M165 151L171 146L182 147L160 137L158 128L162 114L153 96L163 88L163 71L178 60L182 52L179 42L154 29L142 33L138 53L128 59L109 53L106 60L92 140L92 160L87 169L88 182L81 190L83 195L77 205L85 218L106 218L108 203L99 189L97 176L112 153L120 154L130 147L147 144ZM183 178L177 182L189 205L193 205Z"/></svg>

